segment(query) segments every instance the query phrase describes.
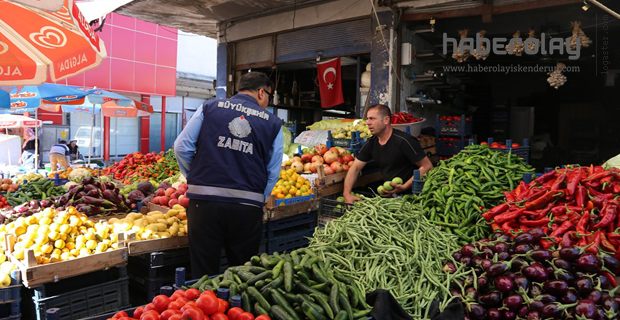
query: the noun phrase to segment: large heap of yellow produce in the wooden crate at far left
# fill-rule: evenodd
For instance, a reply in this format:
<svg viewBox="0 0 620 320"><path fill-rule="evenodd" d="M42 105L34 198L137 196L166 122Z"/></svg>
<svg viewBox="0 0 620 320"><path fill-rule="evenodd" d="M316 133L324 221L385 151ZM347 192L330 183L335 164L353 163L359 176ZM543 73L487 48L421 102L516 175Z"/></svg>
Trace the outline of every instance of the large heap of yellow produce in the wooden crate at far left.
<svg viewBox="0 0 620 320"><path fill-rule="evenodd" d="M118 248L118 236L105 222L95 223L74 207L53 208L0 225L0 235L17 237L12 254L23 260L33 250L38 264L66 261Z"/></svg>

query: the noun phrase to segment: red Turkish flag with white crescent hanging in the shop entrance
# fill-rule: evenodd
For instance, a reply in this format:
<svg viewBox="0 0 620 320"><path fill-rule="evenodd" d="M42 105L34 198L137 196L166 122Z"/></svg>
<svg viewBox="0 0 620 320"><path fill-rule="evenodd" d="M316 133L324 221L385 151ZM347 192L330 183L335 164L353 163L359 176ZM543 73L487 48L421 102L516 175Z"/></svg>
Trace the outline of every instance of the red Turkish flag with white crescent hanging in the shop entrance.
<svg viewBox="0 0 620 320"><path fill-rule="evenodd" d="M330 108L343 104L340 58L318 62L316 68L321 93L321 107Z"/></svg>

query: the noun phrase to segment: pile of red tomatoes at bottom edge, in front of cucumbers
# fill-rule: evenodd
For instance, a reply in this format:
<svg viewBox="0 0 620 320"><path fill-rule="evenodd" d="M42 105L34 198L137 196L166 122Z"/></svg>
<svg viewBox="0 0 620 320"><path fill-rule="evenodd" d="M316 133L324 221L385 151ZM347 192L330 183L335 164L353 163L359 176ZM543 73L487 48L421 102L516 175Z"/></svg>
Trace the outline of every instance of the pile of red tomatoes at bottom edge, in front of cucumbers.
<svg viewBox="0 0 620 320"><path fill-rule="evenodd" d="M177 290L170 297L160 294L151 303L137 307L132 316L117 312L108 320L271 320L268 315L254 318L239 307L229 308L228 301L218 298L213 291L198 289Z"/></svg>

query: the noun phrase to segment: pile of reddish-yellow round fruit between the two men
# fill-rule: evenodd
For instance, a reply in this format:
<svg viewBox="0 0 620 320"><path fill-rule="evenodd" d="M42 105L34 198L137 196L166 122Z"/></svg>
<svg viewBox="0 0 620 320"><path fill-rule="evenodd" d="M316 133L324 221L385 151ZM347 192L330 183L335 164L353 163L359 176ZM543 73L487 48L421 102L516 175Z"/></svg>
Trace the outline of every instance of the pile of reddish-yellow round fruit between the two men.
<svg viewBox="0 0 620 320"><path fill-rule="evenodd" d="M326 175L349 170L355 158L342 147L327 148L320 144L314 149L305 150L304 154L293 157L284 163L285 169L293 169L296 173L316 173L323 166Z"/></svg>

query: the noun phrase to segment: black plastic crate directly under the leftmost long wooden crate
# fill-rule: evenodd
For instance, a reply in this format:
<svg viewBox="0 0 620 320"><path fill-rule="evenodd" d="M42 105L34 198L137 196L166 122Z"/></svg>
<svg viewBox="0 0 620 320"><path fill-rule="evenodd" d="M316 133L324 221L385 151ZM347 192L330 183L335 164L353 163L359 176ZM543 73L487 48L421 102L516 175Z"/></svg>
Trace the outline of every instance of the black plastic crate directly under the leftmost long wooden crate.
<svg viewBox="0 0 620 320"><path fill-rule="evenodd" d="M35 289L32 300L37 319L46 319L46 311L52 308L58 309L56 319L80 319L128 308L129 278L126 270L120 273L116 280L53 295L46 294L44 288Z"/></svg>

